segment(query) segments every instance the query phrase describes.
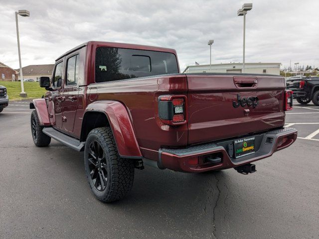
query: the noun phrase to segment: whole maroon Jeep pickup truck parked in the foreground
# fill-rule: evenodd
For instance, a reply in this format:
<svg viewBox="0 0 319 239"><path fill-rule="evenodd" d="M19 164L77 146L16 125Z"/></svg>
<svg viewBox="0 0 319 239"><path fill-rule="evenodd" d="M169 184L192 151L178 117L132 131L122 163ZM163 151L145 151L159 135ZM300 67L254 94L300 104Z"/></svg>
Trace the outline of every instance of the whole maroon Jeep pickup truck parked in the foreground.
<svg viewBox="0 0 319 239"><path fill-rule="evenodd" d="M57 58L30 108L36 146L51 138L84 151L103 202L131 190L135 168L181 172L235 168L290 146L292 91L274 75L179 72L173 49L90 41Z"/></svg>

